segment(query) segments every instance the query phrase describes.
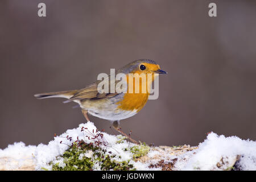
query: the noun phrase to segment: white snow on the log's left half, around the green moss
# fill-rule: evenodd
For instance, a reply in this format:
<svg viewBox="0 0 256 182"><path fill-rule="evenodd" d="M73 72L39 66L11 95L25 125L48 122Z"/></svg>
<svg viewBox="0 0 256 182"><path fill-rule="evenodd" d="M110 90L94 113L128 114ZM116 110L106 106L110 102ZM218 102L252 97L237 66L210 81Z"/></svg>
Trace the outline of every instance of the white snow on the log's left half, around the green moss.
<svg viewBox="0 0 256 182"><path fill-rule="evenodd" d="M86 128L86 130L81 131L82 127ZM93 131L96 131L96 127L92 122L87 122L85 124L80 124L76 129L67 130L60 136L55 137L54 140L51 140L47 145L39 144L38 146L25 146L23 142L10 144L4 150L0 149L0 164L1 158L14 158L16 160L30 158L34 160L36 170L41 170L42 168L51 169L51 166L49 166L48 163L53 162L53 164L55 164L58 162L62 165L59 158L56 159L56 157L63 154L77 139L77 137L79 137L79 139L85 140L85 142L92 142L92 140L89 140L85 136L88 135L90 138L92 138L93 136L90 135L90 133L93 133ZM133 143L128 143L126 140L124 140L123 143L117 144L117 137L107 133L103 134L104 139L107 141L107 146L105 146L104 149L107 152L112 152L112 154L117 155L114 160L121 162L123 160L133 159L133 155L129 151L124 150L128 146L134 146ZM72 140L68 140L67 136L72 137ZM92 151L86 152L84 156L92 156ZM121 156L121 158L118 158L118 156ZM22 166L22 164L23 161L20 160L19 166ZM134 164L134 166L140 170L147 168L146 164L142 164L140 162L131 161L131 164ZM63 165L65 164L63 163ZM11 166L8 169L16 169L19 166ZM98 168L94 167L94 169L100 169L100 166L98 166Z"/></svg>

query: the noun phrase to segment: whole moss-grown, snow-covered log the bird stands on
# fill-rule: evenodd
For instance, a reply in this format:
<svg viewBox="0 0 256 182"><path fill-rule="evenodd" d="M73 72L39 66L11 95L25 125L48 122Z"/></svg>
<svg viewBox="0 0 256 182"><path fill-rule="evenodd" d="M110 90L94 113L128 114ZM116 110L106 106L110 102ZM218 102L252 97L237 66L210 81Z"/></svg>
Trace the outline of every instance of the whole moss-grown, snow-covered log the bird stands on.
<svg viewBox="0 0 256 182"><path fill-rule="evenodd" d="M256 142L209 133L199 146L148 146L98 131L92 122L38 146L0 150L0 170L256 170Z"/></svg>

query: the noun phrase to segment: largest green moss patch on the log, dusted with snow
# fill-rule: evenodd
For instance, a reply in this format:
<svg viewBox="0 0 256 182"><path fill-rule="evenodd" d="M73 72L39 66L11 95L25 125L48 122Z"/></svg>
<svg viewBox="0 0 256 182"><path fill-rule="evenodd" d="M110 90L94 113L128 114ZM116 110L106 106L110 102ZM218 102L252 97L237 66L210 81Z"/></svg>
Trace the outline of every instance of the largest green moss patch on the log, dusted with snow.
<svg viewBox="0 0 256 182"><path fill-rule="evenodd" d="M89 154L90 155L86 155ZM117 162L111 155L102 148L86 144L83 141L73 143L73 145L57 157L57 160L63 160L63 164L50 163L53 171L88 171L92 170L95 164L98 164L101 170L133 170L134 166L129 164L130 161ZM62 163L62 162L61 162Z"/></svg>

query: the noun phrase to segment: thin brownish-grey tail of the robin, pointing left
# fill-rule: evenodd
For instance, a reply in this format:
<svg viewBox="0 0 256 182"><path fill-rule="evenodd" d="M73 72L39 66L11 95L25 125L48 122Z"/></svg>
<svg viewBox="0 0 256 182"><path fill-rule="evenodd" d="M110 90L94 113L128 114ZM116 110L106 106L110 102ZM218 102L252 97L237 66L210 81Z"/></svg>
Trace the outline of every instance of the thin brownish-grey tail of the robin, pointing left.
<svg viewBox="0 0 256 182"><path fill-rule="evenodd" d="M77 90L69 90L69 91L63 91L63 92L48 92L48 93L39 93L35 94L34 96L38 99L43 98L52 98L52 97L61 97L61 98L71 98Z"/></svg>

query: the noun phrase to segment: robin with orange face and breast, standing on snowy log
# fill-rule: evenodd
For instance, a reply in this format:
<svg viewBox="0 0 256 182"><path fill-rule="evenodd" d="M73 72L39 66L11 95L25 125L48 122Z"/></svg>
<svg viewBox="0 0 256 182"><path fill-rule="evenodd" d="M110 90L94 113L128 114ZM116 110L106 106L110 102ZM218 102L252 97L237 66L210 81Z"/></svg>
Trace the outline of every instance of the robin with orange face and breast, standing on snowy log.
<svg viewBox="0 0 256 182"><path fill-rule="evenodd" d="M129 83L129 75L131 73L138 73L137 75L142 75L142 73L144 73L146 76L148 73L151 73L151 82L154 81L156 75L167 74L167 72L160 69L160 66L156 64L154 60L145 59L133 61L132 63L125 65L125 67L115 71L115 74L118 73L123 73L126 75L127 83ZM110 77L110 75L108 77ZM147 82L147 84L151 84L151 82ZM38 99L61 97L67 98L64 103L71 101L76 102L81 107L82 114L87 121L90 121L88 114L98 118L107 119L112 122L112 126L115 130L125 135L125 137L131 140L131 142L137 143L134 139L131 139L130 136L128 137L125 133L123 133L119 127L119 121L137 114L146 104L148 96L150 95L150 90L146 89L145 93L142 92L142 79L137 82L137 84L140 86L139 93L100 93L98 90L98 84L100 84L100 80L82 89L63 92L40 93L35 94L35 97ZM134 80L133 84L135 84ZM127 84L127 89L129 89L129 86L130 85ZM136 85L133 86L133 91L135 86Z"/></svg>

